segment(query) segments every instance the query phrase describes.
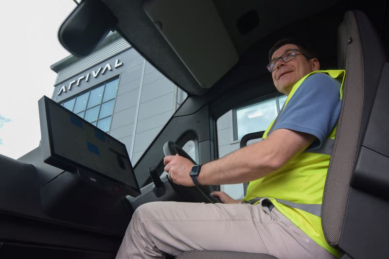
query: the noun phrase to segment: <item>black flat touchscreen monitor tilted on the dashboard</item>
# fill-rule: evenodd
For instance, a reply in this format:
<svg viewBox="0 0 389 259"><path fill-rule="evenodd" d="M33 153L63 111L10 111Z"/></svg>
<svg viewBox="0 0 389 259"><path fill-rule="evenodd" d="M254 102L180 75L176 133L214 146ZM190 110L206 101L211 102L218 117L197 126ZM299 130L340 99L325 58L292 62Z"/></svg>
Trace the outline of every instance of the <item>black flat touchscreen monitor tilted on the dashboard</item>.
<svg viewBox="0 0 389 259"><path fill-rule="evenodd" d="M44 96L39 102L44 161L81 178L137 196L140 188L125 145ZM94 177L96 176L96 177Z"/></svg>

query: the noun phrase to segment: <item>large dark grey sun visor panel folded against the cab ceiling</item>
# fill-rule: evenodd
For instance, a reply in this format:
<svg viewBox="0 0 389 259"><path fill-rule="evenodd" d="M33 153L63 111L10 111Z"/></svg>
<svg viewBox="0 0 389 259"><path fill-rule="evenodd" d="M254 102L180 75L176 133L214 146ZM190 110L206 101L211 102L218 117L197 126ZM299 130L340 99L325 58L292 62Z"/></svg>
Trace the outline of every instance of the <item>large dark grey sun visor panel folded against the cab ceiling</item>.
<svg viewBox="0 0 389 259"><path fill-rule="evenodd" d="M144 11L200 86L210 88L238 62L213 1L150 0Z"/></svg>

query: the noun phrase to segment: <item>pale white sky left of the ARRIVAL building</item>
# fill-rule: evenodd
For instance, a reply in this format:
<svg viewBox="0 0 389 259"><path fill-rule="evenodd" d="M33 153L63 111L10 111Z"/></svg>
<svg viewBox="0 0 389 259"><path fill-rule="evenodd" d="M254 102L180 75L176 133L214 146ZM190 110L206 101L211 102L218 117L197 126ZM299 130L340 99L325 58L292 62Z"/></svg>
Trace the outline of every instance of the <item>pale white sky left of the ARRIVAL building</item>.
<svg viewBox="0 0 389 259"><path fill-rule="evenodd" d="M19 158L39 145L38 100L52 97L50 66L67 57L60 25L73 0L5 1L0 8L0 154Z"/></svg>

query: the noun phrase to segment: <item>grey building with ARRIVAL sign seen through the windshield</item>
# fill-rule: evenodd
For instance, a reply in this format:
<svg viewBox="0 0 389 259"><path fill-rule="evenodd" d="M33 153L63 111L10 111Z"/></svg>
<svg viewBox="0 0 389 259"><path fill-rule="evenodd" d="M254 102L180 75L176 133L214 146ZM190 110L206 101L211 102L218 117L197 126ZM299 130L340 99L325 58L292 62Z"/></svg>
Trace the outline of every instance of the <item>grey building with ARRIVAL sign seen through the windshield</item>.
<svg viewBox="0 0 389 259"><path fill-rule="evenodd" d="M52 67L52 99L123 142L134 167L187 97L118 33L89 56Z"/></svg>

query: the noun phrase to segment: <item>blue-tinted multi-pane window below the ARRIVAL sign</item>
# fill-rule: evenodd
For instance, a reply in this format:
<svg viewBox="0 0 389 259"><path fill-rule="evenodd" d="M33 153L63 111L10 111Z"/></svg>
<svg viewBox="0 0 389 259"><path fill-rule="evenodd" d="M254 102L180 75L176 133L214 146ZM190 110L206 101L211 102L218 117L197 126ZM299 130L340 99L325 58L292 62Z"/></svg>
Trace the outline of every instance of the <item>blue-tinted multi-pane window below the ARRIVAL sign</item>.
<svg viewBox="0 0 389 259"><path fill-rule="evenodd" d="M108 132L111 125L119 78L60 103L81 118Z"/></svg>

